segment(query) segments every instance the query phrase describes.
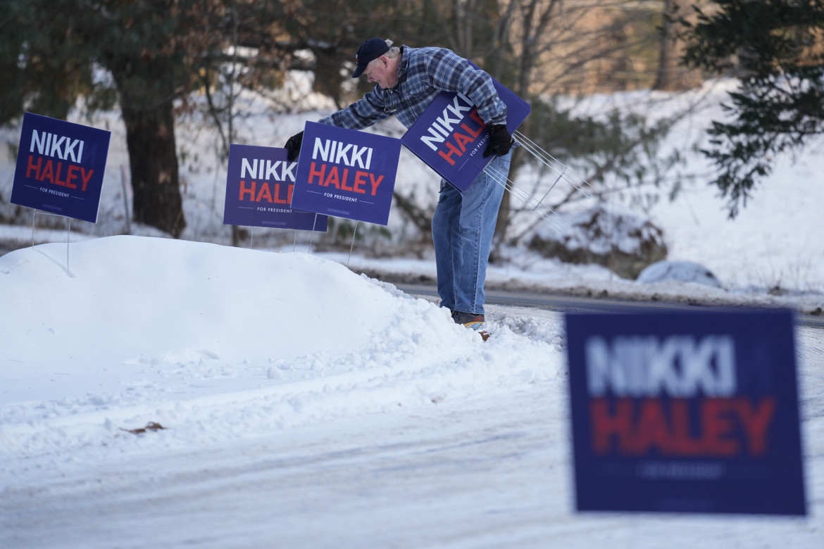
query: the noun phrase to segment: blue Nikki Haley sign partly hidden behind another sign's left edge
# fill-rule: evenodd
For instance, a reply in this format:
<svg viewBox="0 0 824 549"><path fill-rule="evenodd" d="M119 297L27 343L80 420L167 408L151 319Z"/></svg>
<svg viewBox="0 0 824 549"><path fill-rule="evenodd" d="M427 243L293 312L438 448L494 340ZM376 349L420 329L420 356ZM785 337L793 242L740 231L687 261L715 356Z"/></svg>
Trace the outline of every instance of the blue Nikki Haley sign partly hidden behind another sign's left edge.
<svg viewBox="0 0 824 549"><path fill-rule="evenodd" d="M296 162L286 149L230 145L224 225L325 232L328 218L293 209Z"/></svg>

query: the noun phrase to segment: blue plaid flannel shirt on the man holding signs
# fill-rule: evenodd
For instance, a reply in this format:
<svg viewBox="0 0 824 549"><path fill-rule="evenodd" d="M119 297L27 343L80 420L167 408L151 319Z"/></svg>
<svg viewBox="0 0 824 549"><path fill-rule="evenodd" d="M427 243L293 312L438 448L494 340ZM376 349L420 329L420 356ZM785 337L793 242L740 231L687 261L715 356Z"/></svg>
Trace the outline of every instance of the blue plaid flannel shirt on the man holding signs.
<svg viewBox="0 0 824 549"><path fill-rule="evenodd" d="M362 129L394 114L410 128L442 91L466 95L485 123L506 123L507 106L499 99L488 73L475 69L449 49L408 46L400 49L397 86L375 86L363 99L318 122Z"/></svg>

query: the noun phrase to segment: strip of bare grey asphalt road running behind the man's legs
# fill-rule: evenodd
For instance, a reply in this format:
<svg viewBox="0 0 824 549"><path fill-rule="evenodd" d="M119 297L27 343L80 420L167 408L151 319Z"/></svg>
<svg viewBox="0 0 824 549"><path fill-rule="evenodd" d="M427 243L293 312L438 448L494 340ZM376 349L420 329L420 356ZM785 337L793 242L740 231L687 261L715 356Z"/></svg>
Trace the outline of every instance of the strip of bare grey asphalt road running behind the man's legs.
<svg viewBox="0 0 824 549"><path fill-rule="evenodd" d="M410 295L437 296L434 286L423 285L396 285L400 290ZM486 291L486 302L490 305L512 305L517 307L536 307L560 313L653 313L662 311L695 311L695 310L729 310L729 308L705 307L703 305L684 305L679 303L664 303L660 301L620 301L577 297L570 295L536 294L527 291ZM796 323L799 326L810 328L824 328L824 318L808 314L796 314Z"/></svg>

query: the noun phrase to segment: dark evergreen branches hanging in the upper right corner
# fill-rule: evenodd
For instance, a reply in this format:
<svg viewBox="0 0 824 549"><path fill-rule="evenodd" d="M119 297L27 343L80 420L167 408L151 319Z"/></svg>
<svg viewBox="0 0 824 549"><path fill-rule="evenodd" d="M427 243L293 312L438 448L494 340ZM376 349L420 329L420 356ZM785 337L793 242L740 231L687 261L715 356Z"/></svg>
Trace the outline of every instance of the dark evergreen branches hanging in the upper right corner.
<svg viewBox="0 0 824 549"><path fill-rule="evenodd" d="M777 153L796 153L824 131L824 2L718 0L695 15L678 20L684 63L741 81L703 151L734 217Z"/></svg>

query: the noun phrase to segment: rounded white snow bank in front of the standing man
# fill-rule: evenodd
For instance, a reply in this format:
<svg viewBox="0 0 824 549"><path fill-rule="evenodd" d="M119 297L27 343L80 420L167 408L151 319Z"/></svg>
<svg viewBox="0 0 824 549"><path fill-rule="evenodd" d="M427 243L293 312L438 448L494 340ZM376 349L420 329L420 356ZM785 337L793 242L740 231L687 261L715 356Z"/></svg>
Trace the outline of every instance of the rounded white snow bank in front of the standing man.
<svg viewBox="0 0 824 549"><path fill-rule="evenodd" d="M308 254L116 236L0 258L0 454L254 435L556 379L561 327L448 311ZM516 333L517 332L517 333ZM523 333L530 337L524 337ZM115 436L113 436L115 435Z"/></svg>

